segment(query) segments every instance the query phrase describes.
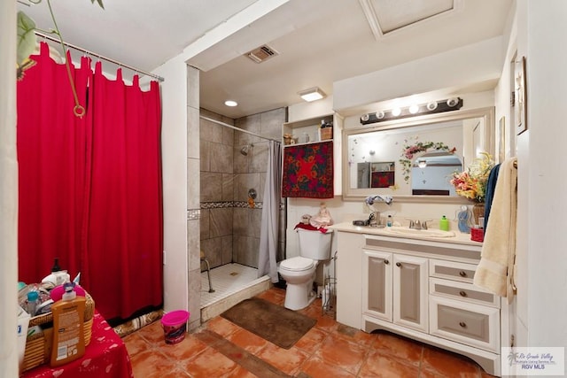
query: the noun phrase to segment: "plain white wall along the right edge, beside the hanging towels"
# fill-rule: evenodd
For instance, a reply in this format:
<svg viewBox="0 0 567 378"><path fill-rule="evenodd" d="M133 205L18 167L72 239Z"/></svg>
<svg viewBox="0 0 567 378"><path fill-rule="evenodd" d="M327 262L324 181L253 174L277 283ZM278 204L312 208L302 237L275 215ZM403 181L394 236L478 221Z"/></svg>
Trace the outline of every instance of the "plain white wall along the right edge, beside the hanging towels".
<svg viewBox="0 0 567 378"><path fill-rule="evenodd" d="M527 217L528 346L567 346L564 174L567 2L519 0L518 56L527 59L527 126L518 136L518 193ZM529 161L529 165L528 165ZM527 192L525 190L527 189ZM518 209L519 210L519 209ZM527 211L526 211L527 210Z"/></svg>

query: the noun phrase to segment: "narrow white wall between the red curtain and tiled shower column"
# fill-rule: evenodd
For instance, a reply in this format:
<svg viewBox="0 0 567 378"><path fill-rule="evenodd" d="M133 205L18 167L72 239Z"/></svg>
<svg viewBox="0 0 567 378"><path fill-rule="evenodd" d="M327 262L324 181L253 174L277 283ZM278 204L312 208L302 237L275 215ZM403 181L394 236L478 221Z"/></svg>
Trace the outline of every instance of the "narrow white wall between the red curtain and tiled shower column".
<svg viewBox="0 0 567 378"><path fill-rule="evenodd" d="M161 89L164 212L164 310L188 309L187 66L180 56L153 73Z"/></svg>

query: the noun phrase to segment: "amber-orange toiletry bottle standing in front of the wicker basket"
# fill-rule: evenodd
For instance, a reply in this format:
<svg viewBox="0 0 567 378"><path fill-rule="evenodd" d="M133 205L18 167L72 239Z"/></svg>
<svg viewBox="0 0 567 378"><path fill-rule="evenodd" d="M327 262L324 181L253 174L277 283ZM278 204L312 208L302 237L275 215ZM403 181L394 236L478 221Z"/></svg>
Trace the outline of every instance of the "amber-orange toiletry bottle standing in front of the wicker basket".
<svg viewBox="0 0 567 378"><path fill-rule="evenodd" d="M65 284L63 298L51 306L53 313L53 344L50 366L60 366L85 353L85 297L77 297L74 283Z"/></svg>

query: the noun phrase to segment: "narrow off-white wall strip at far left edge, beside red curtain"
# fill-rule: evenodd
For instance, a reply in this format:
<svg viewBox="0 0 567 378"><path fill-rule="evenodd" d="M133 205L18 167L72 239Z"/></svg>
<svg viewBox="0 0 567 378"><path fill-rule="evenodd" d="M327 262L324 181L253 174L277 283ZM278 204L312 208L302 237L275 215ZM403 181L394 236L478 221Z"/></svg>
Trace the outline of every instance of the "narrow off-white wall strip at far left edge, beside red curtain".
<svg viewBox="0 0 567 378"><path fill-rule="evenodd" d="M0 375L18 376L18 163L16 1L0 2ZM5 374L5 375L4 375Z"/></svg>

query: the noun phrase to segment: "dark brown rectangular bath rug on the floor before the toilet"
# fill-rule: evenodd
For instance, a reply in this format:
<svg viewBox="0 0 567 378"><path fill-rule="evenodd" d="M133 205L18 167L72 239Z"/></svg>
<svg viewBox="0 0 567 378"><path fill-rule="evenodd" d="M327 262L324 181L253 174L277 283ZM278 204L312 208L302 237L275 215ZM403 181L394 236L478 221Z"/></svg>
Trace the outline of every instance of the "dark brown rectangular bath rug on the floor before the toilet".
<svg viewBox="0 0 567 378"><path fill-rule="evenodd" d="M283 349L290 349L317 322L302 313L256 297L230 307L221 313L221 317Z"/></svg>

